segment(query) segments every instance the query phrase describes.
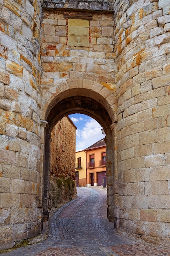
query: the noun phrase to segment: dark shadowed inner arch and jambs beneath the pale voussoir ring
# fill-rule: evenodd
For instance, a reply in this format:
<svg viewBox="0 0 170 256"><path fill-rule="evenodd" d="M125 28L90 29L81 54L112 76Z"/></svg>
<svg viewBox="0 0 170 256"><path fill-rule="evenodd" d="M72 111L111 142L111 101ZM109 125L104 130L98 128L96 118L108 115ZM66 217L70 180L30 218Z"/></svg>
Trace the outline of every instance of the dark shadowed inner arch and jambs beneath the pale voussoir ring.
<svg viewBox="0 0 170 256"><path fill-rule="evenodd" d="M61 101L58 101L53 106L49 106L47 110L46 121L48 122L48 128L46 129L46 142L44 150L44 216L48 216L48 204L49 204L49 161L50 161L50 138L51 131L55 124L65 116L80 113L85 114L95 119L104 129L106 134L106 168L107 168L107 193L108 193L108 219L111 221L114 219L114 199L113 199L113 139L112 130L110 128L112 121L108 115L104 106L92 99L85 96L72 96L66 97Z"/></svg>

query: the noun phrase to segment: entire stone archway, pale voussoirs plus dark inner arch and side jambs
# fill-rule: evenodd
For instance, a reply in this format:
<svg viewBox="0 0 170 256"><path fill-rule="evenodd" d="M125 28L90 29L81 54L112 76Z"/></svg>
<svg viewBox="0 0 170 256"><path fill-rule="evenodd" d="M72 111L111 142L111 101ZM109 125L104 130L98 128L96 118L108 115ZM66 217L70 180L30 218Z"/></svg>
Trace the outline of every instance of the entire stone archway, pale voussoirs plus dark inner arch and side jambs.
<svg viewBox="0 0 170 256"><path fill-rule="evenodd" d="M62 86L64 84L64 86ZM106 133L106 152L107 152L107 190L108 190L108 218L113 220L113 131L112 124L115 119L115 95L103 85L88 79L71 79L55 83L53 87L44 90L44 105L46 112L42 110L42 118L47 122L44 132L45 164L44 169L44 216L48 215L49 198L49 155L50 137L55 124L64 116L72 113L82 113L91 116L104 128ZM65 90L64 90L65 89ZM47 97L47 95L51 95ZM115 103L115 104L113 104ZM48 107L47 107L48 104ZM42 104L43 105L43 104ZM43 109L43 106L42 106Z"/></svg>

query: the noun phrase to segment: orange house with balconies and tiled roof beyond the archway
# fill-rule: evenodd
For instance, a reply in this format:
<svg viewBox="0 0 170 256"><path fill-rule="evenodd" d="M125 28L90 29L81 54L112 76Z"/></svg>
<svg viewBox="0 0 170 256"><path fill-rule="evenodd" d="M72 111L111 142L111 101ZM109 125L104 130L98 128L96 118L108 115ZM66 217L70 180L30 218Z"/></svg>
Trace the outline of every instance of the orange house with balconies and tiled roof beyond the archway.
<svg viewBox="0 0 170 256"><path fill-rule="evenodd" d="M86 152L87 186L106 186L106 143L97 141Z"/></svg>

